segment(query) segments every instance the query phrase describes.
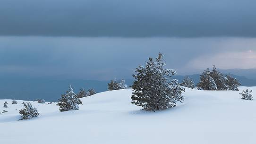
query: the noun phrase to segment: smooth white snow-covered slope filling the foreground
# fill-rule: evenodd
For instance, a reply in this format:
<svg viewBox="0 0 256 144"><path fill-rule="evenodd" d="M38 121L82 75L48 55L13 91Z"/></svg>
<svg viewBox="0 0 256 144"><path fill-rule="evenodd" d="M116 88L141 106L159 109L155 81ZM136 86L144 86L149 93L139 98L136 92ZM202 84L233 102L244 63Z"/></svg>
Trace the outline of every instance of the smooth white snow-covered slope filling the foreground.
<svg viewBox="0 0 256 144"><path fill-rule="evenodd" d="M240 87L244 90L247 87ZM256 99L256 87L253 90ZM186 89L185 102L146 112L132 105L132 90L82 98L80 110L59 112L56 103L31 102L39 117L17 121L22 102L0 107L1 144L256 144L256 100L238 91ZM17 109L17 110L16 110Z"/></svg>

